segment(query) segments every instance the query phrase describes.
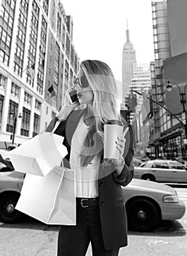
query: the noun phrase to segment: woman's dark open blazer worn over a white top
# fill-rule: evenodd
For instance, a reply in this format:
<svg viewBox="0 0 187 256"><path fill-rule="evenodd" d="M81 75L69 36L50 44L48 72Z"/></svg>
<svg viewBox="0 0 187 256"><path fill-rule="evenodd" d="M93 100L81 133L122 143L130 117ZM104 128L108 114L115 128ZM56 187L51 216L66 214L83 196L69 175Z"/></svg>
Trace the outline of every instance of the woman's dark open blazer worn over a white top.
<svg viewBox="0 0 187 256"><path fill-rule="evenodd" d="M69 157L71 152L71 139L84 110L74 110L66 121L61 121L55 134L64 137L63 144L68 149L68 155L63 159L65 167L70 168ZM53 118L46 132L51 132L55 127L57 118ZM130 124L124 121L124 128L130 127L127 132L124 150L125 164L114 159L102 159L100 162L98 188L100 202L100 222L103 233L103 242L106 250L127 246L127 215L125 211L124 195L121 185L127 186L133 177L133 132ZM115 170L122 168L122 173L117 176Z"/></svg>

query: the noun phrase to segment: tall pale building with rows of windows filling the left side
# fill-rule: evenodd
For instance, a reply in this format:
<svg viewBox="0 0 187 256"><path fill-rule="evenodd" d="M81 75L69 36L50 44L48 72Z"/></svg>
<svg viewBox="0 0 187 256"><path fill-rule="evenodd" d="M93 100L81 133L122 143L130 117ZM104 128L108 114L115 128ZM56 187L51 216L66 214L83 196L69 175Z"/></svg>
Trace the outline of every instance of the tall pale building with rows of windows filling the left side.
<svg viewBox="0 0 187 256"><path fill-rule="evenodd" d="M60 1L0 0L0 20L0 140L19 144L56 115L79 59Z"/></svg>

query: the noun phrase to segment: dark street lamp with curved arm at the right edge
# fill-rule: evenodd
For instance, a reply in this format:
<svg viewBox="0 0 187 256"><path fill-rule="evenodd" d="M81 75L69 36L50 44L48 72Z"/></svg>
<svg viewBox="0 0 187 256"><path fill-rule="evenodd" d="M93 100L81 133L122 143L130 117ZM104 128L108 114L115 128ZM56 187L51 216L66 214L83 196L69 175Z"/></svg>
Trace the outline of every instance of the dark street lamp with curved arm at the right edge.
<svg viewBox="0 0 187 256"><path fill-rule="evenodd" d="M167 91L172 91L172 83L178 87L178 91L179 91L179 94L180 94L180 104L183 106L183 113L185 115L185 124L184 124L184 127L185 127L185 134L186 134L186 139L187 139L187 118L186 118L186 86L187 86L187 83L186 85L184 86L184 89L181 90L180 89L180 86L178 86L177 83L175 82L171 82L170 80L167 81L167 86L166 86L166 89Z"/></svg>

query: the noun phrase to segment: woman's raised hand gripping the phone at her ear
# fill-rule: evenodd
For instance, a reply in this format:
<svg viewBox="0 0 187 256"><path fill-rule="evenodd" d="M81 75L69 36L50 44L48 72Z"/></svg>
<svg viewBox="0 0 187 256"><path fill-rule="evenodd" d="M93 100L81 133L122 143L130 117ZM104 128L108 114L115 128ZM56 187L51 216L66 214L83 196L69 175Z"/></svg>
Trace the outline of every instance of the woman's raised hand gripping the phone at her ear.
<svg viewBox="0 0 187 256"><path fill-rule="evenodd" d="M66 120L67 117L69 116L69 114L76 108L80 105L79 102L75 102L73 104L71 104L69 102L69 93L71 91L73 91L74 88L71 88L71 89L68 89L66 92L65 92L65 98L64 98L64 103L63 103L63 106L62 108L60 109L59 113L57 114L57 118L61 121L61 120Z"/></svg>

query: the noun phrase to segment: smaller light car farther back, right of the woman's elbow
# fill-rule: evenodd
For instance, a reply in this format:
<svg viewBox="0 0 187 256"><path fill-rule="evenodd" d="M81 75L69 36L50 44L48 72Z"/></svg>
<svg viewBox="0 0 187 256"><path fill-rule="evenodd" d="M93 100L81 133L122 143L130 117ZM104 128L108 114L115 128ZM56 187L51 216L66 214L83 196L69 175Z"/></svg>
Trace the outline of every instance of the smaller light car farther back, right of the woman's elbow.
<svg viewBox="0 0 187 256"><path fill-rule="evenodd" d="M187 183L186 166L172 160L150 160L135 167L135 178L166 183Z"/></svg>

